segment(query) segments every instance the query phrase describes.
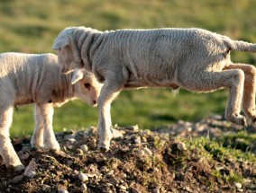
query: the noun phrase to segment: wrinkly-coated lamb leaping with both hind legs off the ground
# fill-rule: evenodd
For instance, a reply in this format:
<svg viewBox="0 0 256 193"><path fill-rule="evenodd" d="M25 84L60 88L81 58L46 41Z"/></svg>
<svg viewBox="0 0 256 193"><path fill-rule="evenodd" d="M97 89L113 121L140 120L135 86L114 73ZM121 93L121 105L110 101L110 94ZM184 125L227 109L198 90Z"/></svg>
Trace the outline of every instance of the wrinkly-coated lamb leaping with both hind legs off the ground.
<svg viewBox="0 0 256 193"><path fill-rule="evenodd" d="M225 116L238 125L256 121L254 66L233 64L230 51L256 52L256 44L202 29L96 31L71 27L52 46L67 73L85 67L104 83L98 98L99 147L108 150L111 102L123 89L185 88L192 92L229 89Z"/></svg>

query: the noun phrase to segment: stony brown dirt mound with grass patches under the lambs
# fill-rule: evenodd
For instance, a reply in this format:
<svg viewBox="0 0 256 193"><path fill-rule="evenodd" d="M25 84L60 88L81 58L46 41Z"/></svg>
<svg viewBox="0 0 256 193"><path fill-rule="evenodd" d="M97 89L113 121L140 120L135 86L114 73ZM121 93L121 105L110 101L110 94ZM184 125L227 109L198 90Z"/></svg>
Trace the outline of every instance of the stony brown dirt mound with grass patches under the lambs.
<svg viewBox="0 0 256 193"><path fill-rule="evenodd" d="M255 157L231 156L210 140L225 124L217 117L156 131L116 127L122 136L107 153L97 149L93 127L57 134L59 153L32 149L29 137L15 138L14 147L29 166L24 175L0 160L0 192L255 192Z"/></svg>

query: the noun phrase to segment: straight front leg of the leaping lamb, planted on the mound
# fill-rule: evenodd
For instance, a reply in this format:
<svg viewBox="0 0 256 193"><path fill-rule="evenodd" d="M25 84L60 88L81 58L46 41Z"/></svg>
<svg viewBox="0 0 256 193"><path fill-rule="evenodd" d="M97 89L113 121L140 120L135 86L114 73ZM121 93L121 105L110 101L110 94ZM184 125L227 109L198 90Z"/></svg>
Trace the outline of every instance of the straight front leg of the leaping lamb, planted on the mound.
<svg viewBox="0 0 256 193"><path fill-rule="evenodd" d="M111 102L120 92L120 86L116 83L118 83L117 80L114 80L114 82L106 80L98 98L98 147L104 151L109 150L112 138L112 122L110 114Z"/></svg>

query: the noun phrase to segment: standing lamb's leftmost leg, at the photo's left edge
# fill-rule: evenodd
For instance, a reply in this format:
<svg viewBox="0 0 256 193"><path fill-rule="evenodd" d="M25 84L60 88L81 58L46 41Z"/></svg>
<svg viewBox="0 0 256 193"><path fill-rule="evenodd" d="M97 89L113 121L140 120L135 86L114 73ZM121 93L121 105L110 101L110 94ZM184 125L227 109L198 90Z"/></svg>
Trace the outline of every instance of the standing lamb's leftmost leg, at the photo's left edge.
<svg viewBox="0 0 256 193"><path fill-rule="evenodd" d="M14 171L22 171L23 163L14 150L9 137L9 128L13 121L14 107L6 107L0 110L0 154L6 166L11 166Z"/></svg>

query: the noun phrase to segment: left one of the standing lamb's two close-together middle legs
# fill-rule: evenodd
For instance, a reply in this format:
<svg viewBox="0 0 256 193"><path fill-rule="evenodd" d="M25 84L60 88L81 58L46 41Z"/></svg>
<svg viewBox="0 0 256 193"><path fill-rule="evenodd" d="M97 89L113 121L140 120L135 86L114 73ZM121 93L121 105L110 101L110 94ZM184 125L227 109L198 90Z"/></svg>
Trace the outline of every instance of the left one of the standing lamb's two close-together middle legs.
<svg viewBox="0 0 256 193"><path fill-rule="evenodd" d="M43 145L43 122L41 119L40 107L36 104L34 107L34 121L35 127L32 134L32 147L44 147Z"/></svg>

